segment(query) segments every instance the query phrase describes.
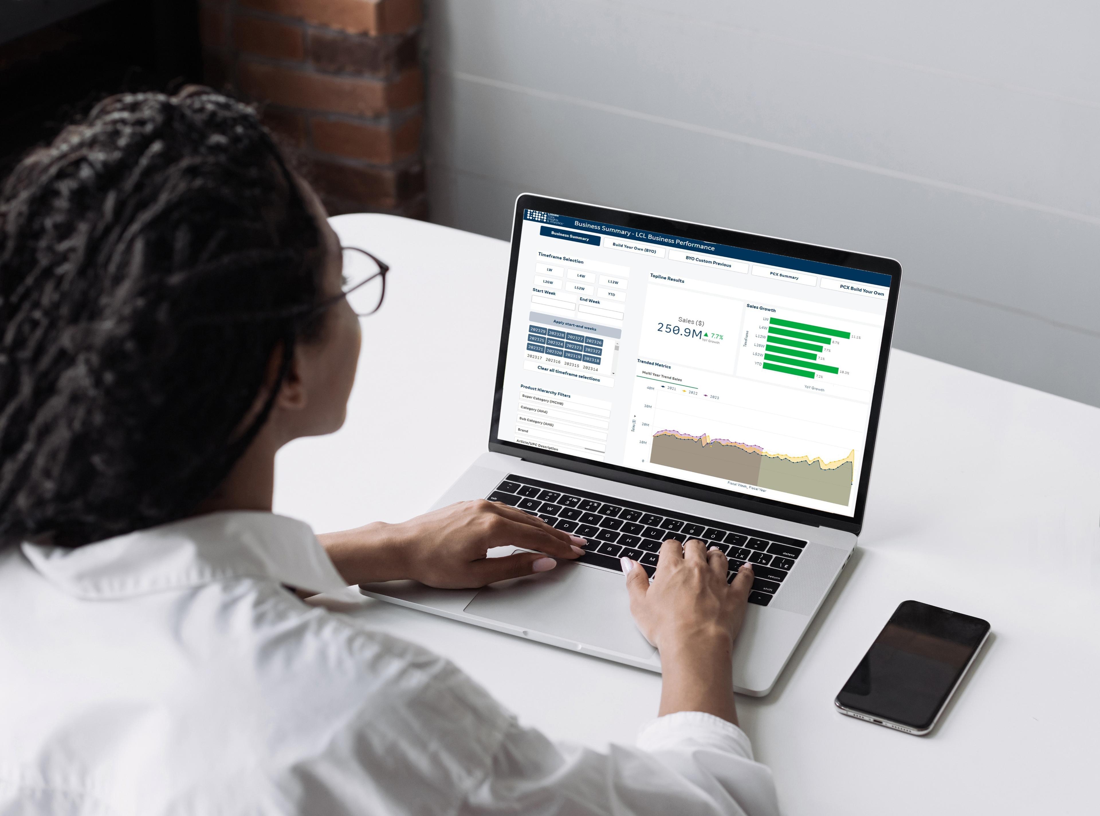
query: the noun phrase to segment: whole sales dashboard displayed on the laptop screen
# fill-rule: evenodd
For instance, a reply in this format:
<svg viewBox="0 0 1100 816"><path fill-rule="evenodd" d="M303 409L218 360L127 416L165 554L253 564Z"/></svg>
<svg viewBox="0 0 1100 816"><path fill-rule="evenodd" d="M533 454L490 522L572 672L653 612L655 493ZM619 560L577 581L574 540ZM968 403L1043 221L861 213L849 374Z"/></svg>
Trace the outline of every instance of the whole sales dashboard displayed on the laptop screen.
<svg viewBox="0 0 1100 816"><path fill-rule="evenodd" d="M520 224L498 439L855 515L890 275Z"/></svg>

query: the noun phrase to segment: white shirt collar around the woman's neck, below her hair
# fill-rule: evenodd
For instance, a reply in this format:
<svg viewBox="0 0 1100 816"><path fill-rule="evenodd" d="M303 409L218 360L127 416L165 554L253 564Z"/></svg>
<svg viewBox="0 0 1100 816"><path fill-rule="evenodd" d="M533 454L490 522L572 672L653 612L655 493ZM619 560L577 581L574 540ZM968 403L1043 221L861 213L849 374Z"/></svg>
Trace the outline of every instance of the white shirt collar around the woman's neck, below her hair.
<svg viewBox="0 0 1100 816"><path fill-rule="evenodd" d="M346 586L309 525L272 512L212 512L76 549L32 543L22 549L47 581L87 599L241 577L311 592Z"/></svg>

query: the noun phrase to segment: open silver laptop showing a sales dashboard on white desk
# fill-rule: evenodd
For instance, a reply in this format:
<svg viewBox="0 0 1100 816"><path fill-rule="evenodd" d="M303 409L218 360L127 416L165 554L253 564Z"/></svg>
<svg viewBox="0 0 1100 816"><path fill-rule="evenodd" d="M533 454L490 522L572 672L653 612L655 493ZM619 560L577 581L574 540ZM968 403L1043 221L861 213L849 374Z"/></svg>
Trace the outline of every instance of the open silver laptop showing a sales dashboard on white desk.
<svg viewBox="0 0 1100 816"><path fill-rule="evenodd" d="M435 507L503 501L586 553L361 591L659 672L619 558L652 576L662 541L698 538L730 580L754 566L734 683L767 694L858 540L900 282L884 257L519 196L488 449Z"/></svg>

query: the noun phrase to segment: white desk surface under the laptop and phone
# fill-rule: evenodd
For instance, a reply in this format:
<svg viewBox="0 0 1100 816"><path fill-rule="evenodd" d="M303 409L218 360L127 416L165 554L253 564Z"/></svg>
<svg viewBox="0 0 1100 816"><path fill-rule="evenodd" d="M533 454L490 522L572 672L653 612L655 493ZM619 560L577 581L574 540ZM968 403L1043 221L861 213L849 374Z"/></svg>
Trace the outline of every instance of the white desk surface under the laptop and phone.
<svg viewBox="0 0 1100 816"><path fill-rule="evenodd" d="M416 515L485 449L508 262L506 243L444 227L332 224L393 273L345 427L279 454L275 509L318 531ZM783 812L1097 813L1098 522L1100 410L894 351L860 547L772 694L738 699ZM833 709L906 598L993 627L925 738ZM556 738L631 741L657 709L648 672L350 589L328 603L446 654Z"/></svg>

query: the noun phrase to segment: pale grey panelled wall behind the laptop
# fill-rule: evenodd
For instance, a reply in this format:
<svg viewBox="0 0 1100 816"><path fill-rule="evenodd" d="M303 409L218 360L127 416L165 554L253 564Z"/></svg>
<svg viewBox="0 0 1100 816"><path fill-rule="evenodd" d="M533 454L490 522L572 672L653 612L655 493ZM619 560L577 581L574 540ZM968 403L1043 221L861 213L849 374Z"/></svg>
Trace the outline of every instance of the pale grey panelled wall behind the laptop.
<svg viewBox="0 0 1100 816"><path fill-rule="evenodd" d="M429 0L432 218L521 191L897 257L894 345L1100 405L1100 3Z"/></svg>

